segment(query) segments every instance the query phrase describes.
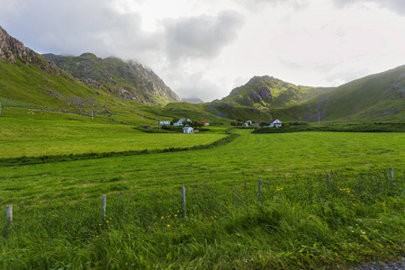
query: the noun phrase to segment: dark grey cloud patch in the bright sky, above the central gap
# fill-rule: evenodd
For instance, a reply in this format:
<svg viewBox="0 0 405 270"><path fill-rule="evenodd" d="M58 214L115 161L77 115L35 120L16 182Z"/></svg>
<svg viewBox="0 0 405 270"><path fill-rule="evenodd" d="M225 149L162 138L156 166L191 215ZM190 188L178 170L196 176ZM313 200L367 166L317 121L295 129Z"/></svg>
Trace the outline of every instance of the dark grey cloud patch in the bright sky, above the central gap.
<svg viewBox="0 0 405 270"><path fill-rule="evenodd" d="M235 12L200 15L162 22L166 31L166 52L172 62L184 58L213 58L238 37L243 17Z"/></svg>

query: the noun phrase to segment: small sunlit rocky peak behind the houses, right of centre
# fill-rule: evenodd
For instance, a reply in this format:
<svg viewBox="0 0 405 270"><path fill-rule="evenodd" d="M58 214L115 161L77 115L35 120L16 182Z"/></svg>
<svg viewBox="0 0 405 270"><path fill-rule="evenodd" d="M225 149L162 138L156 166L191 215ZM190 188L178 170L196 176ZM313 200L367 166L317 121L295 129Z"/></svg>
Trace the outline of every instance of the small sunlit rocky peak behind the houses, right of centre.
<svg viewBox="0 0 405 270"><path fill-rule="evenodd" d="M293 85L273 76L254 76L221 101L257 108L276 108L309 100L332 89Z"/></svg>

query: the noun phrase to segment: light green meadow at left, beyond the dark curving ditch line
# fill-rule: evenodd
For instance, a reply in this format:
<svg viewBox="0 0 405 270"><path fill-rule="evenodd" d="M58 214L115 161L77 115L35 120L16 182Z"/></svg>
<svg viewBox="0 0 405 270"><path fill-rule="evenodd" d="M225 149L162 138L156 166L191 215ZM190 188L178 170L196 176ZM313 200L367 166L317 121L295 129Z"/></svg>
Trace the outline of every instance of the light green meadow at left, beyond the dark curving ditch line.
<svg viewBox="0 0 405 270"><path fill-rule="evenodd" d="M146 134L130 125L92 122L89 117L68 114L63 120L60 116L49 116L46 121L34 117L4 117L0 118L0 124L0 158L190 147L225 137L215 132L192 136L181 133Z"/></svg>

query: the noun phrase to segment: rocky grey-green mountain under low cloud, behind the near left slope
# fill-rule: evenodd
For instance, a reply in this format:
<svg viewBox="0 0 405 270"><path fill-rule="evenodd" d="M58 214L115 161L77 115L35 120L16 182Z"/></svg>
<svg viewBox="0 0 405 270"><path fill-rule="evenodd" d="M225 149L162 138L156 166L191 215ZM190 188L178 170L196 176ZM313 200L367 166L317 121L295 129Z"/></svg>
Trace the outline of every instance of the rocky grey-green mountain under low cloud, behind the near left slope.
<svg viewBox="0 0 405 270"><path fill-rule="evenodd" d="M134 61L124 62L119 58L102 59L92 53L84 53L79 57L54 54L42 56L86 85L103 89L123 99L149 105L166 105L180 101L180 98L151 69Z"/></svg>

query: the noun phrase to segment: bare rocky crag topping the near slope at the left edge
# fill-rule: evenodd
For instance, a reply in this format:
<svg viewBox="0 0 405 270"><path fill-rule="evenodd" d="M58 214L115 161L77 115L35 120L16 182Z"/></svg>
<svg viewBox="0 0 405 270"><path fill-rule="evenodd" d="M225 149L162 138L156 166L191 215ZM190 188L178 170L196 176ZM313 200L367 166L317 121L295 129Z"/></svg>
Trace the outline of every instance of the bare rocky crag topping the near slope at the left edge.
<svg viewBox="0 0 405 270"><path fill-rule="evenodd" d="M17 60L26 65L32 63L49 73L61 74L54 63L42 58L32 49L25 47L23 42L14 39L0 26L0 61L15 63Z"/></svg>

